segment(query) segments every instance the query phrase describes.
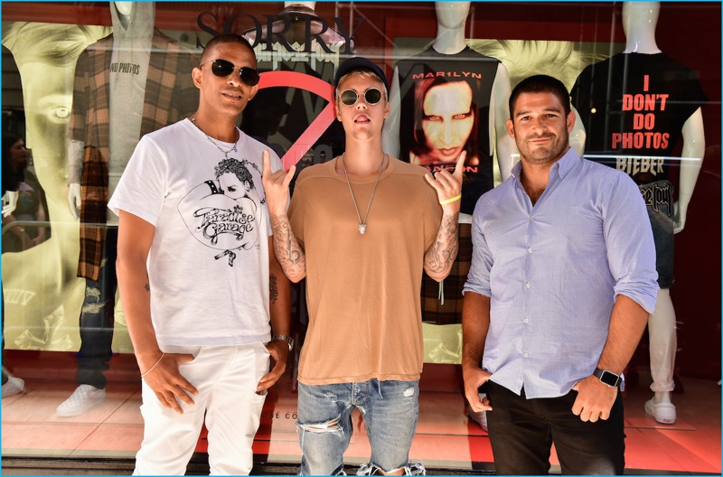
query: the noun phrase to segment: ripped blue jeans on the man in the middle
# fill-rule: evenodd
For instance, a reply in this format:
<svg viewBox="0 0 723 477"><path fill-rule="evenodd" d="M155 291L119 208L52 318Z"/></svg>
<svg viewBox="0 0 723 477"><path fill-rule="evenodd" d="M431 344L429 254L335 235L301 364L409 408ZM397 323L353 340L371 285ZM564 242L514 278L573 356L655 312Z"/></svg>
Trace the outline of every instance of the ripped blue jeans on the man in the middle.
<svg viewBox="0 0 723 477"><path fill-rule="evenodd" d="M408 462L419 416L419 381L380 381L308 386L299 383L298 420L302 457L299 475L340 475L352 439L352 411L362 411L371 460L360 474L404 470L424 474Z"/></svg>

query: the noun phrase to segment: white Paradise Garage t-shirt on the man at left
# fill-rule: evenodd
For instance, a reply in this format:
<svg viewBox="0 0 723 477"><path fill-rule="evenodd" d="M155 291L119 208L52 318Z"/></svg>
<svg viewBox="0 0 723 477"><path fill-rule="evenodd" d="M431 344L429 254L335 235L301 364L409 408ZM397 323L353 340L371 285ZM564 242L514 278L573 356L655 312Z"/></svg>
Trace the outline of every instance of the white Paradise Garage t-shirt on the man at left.
<svg viewBox="0 0 723 477"><path fill-rule="evenodd" d="M188 119L144 136L108 201L155 226L148 257L158 343L268 341L268 149L240 133L214 145ZM219 148L221 147L221 149ZM281 168L270 152L271 164Z"/></svg>

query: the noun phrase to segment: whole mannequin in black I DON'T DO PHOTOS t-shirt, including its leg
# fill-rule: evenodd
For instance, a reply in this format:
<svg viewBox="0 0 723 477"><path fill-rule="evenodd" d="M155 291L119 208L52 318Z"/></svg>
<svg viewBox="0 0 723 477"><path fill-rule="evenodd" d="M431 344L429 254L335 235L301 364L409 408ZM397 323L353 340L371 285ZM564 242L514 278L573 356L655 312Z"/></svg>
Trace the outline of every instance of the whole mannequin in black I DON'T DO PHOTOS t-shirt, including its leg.
<svg viewBox="0 0 723 477"><path fill-rule="evenodd" d="M672 378L677 341L675 311L670 295L673 282L672 237L685 227L688 205L702 165L705 135L700 106L706 98L695 74L669 59L658 48L655 25L659 13L660 4L657 2L625 2L624 52L584 70L573 88L572 98L580 112L578 122L587 128L585 157L605 162L603 156L611 157L612 154L613 163L608 165L630 174L640 185L643 198L648 203L658 252L661 289L655 311L648 320L654 396L645 403L645 411L662 424L673 424L676 410L671 403L671 391L674 388ZM639 72L639 65L643 65L643 73ZM602 91L594 90L594 79L605 77L609 70L613 71L614 77L609 87L613 89L612 98L623 95L624 112L620 112L621 107L618 106L610 111L597 108L596 113L591 114L591 109L601 104L597 98ZM656 72L665 72L666 79L657 80ZM618 80L623 73L628 78L625 84L622 79ZM671 75L675 75L673 79L670 79ZM656 98L654 106L649 104L644 111L639 107L640 103L634 103L636 97L653 98L653 95ZM663 97L667 100L664 106ZM601 141L598 131L604 126L596 124L596 120L603 117L618 119L608 120L605 126L609 127L612 135ZM652 141L641 141L643 137L651 137ZM666 180L671 164L656 158L669 157L679 137L683 141L681 154L684 160L680 161L678 200L674 203L659 201L662 196L672 198L673 191ZM655 200L651 199L653 191Z"/></svg>

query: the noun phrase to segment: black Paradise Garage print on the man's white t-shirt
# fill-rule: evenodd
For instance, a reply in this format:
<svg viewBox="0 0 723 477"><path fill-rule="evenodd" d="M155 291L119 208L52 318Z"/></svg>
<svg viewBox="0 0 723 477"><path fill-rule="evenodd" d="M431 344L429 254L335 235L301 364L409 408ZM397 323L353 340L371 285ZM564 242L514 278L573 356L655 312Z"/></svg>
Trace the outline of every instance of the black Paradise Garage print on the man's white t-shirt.
<svg viewBox="0 0 723 477"><path fill-rule="evenodd" d="M193 237L209 248L219 260L228 257L233 267L236 252L258 247L257 210L266 201L258 195L248 160L228 158L214 167L215 179L188 192L178 211Z"/></svg>

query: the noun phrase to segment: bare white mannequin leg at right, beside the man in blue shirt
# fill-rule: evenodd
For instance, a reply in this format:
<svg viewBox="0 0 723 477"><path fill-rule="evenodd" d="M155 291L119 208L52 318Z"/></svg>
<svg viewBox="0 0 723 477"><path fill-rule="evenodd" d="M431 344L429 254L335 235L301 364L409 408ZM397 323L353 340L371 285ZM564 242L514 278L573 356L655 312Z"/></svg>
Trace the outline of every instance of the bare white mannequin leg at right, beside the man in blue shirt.
<svg viewBox="0 0 723 477"><path fill-rule="evenodd" d="M678 347L675 328L675 309L672 305L671 290L658 292L655 311L648 318L650 336L650 372L653 378L651 390L655 396L645 403L645 411L662 424L675 422L675 407L671 404L675 351Z"/></svg>

